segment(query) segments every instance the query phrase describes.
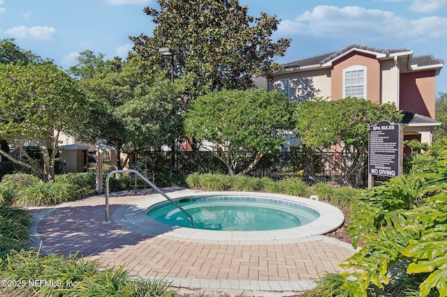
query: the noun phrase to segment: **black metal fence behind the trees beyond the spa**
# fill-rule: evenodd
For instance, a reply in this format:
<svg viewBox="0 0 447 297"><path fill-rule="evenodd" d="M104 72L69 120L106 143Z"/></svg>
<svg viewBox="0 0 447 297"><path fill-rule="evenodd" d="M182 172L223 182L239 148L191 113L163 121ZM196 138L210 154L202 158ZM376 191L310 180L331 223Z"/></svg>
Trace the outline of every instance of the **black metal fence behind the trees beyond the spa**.
<svg viewBox="0 0 447 297"><path fill-rule="evenodd" d="M330 158L347 158L342 153L328 153ZM147 167L155 172L170 172L171 152L162 153L147 151L137 156L139 161L145 162ZM237 169L242 170L254 160L251 153L240 153ZM222 173L227 174L228 169L219 160L216 152L210 151L176 151L175 169L179 174ZM309 151L283 152L278 155L264 155L260 162L249 172L251 176L268 176L274 179L297 177L309 183L336 183L343 184L345 176L339 169L326 162L323 155ZM367 172L360 172L360 186L367 185Z"/></svg>

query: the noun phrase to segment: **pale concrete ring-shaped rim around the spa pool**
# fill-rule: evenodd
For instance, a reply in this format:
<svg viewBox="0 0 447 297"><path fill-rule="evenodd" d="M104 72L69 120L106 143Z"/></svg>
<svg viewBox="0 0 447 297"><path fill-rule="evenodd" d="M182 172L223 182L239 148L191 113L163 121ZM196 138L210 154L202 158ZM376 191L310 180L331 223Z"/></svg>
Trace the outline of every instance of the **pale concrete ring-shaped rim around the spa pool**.
<svg viewBox="0 0 447 297"><path fill-rule="evenodd" d="M166 198L161 195L133 201L120 206L112 213L112 220L120 226L147 236L161 236L175 241L191 241L200 243L217 243L230 245L269 245L277 243L293 243L297 241L323 240L323 234L337 229L344 222L344 215L335 206L303 197L272 194L265 192L201 192L194 190L181 190L170 192L169 197L179 199L190 196L205 195L250 195L253 197L272 197L305 204L320 213L320 217L309 224L290 229L271 231L211 231L203 229L191 229L175 227L161 222L156 222L146 214L147 208Z"/></svg>

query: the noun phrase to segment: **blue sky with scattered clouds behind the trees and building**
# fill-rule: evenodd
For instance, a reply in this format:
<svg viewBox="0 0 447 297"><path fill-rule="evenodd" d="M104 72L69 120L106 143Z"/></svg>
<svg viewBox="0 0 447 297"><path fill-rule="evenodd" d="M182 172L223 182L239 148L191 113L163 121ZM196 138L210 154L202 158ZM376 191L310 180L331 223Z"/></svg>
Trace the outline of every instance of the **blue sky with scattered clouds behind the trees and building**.
<svg viewBox="0 0 447 297"><path fill-rule="evenodd" d="M447 61L447 0L240 0L249 14L277 15L274 38L293 38L286 63L342 50L351 43L383 49L408 48L413 56ZM83 50L125 57L128 36L152 35L142 12L156 0L0 0L0 39L15 38L24 50L67 68ZM447 93L447 66L437 92Z"/></svg>

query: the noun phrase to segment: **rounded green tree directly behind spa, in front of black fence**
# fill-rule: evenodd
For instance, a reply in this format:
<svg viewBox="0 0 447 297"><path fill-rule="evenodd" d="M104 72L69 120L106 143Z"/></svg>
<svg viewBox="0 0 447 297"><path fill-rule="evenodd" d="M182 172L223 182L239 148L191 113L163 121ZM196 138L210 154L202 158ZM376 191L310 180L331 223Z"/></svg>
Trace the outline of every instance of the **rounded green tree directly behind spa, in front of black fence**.
<svg viewBox="0 0 447 297"><path fill-rule="evenodd" d="M217 91L200 96L186 113L185 131L217 144L217 156L230 174L247 174L265 153L277 153L286 142L279 132L293 129L293 102L267 89ZM237 172L243 155L254 155Z"/></svg>

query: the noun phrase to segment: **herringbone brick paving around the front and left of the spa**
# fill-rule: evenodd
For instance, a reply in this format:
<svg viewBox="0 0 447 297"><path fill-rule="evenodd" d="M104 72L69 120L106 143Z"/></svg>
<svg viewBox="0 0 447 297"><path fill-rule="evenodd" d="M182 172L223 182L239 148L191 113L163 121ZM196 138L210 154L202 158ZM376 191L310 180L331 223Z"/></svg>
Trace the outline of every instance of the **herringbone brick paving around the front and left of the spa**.
<svg viewBox="0 0 447 297"><path fill-rule="evenodd" d="M177 190L181 189L167 192ZM120 206L152 195L150 190L140 190L137 195L112 193L110 217ZM251 291L256 296L285 296L309 289L325 273L344 271L339 262L354 253L350 245L327 236L271 245L151 237L114 221L103 224L104 204L101 195L52 208L32 208L34 244L41 245L43 252L78 252L104 265L125 264L134 275L168 277L177 287L234 295Z"/></svg>

